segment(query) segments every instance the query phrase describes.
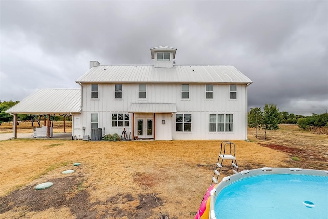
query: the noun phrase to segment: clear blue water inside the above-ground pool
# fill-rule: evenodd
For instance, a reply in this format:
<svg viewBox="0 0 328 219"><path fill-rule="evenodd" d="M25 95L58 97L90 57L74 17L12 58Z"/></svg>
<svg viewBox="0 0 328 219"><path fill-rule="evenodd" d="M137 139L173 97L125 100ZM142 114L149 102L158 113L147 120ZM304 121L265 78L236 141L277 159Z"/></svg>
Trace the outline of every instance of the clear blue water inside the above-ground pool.
<svg viewBox="0 0 328 219"><path fill-rule="evenodd" d="M308 208L303 202L315 207ZM255 175L224 187L215 201L216 218L328 219L328 177Z"/></svg>

